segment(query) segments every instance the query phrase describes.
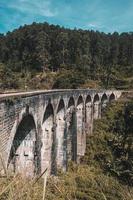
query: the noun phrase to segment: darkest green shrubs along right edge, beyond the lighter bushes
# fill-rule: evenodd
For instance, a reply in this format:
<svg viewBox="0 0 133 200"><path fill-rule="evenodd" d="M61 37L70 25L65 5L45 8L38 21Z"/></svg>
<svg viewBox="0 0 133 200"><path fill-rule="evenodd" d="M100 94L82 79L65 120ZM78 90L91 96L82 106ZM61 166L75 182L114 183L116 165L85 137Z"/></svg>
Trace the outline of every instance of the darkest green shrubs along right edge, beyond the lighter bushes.
<svg viewBox="0 0 133 200"><path fill-rule="evenodd" d="M114 134L111 141L114 161L110 170L124 183L133 185L133 102L118 113Z"/></svg>

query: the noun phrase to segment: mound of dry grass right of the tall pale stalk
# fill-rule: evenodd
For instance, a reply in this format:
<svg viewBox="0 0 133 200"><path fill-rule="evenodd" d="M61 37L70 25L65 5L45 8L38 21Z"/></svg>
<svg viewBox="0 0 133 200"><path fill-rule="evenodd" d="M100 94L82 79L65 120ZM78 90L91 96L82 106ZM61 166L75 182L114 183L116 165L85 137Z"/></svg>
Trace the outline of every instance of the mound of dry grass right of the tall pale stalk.
<svg viewBox="0 0 133 200"><path fill-rule="evenodd" d="M53 185L56 185L56 187ZM49 180L47 200L133 200L133 190L86 165L74 166L58 181Z"/></svg>

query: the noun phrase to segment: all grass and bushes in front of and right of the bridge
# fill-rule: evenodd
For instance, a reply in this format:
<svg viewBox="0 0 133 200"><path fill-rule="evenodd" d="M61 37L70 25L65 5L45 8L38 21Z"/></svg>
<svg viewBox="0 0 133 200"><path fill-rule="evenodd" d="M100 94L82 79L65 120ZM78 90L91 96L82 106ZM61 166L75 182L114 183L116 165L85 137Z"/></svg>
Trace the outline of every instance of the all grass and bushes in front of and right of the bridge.
<svg viewBox="0 0 133 200"><path fill-rule="evenodd" d="M133 101L114 102L95 121L81 164L47 181L46 200L133 199ZM1 200L41 200L43 180L1 178Z"/></svg>

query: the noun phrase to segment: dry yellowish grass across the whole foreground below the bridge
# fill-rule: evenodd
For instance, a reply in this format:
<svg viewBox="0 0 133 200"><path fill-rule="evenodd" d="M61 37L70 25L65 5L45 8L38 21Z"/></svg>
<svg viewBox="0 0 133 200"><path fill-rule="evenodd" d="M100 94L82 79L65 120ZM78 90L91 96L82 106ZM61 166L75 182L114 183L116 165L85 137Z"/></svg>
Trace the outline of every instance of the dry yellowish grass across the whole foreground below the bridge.
<svg viewBox="0 0 133 200"><path fill-rule="evenodd" d="M1 178L0 200L43 200L43 179ZM72 164L67 173L48 178L45 200L133 200L133 188L93 167Z"/></svg>

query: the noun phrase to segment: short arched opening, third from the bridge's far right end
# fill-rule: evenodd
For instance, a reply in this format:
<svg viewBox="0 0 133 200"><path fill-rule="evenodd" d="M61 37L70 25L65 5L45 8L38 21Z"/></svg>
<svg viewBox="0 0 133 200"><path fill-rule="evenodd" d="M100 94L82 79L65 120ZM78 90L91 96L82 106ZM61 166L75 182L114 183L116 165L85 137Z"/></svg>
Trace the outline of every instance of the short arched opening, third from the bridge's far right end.
<svg viewBox="0 0 133 200"><path fill-rule="evenodd" d="M96 94L93 100L93 118L98 119L100 116L100 98L99 95Z"/></svg>

